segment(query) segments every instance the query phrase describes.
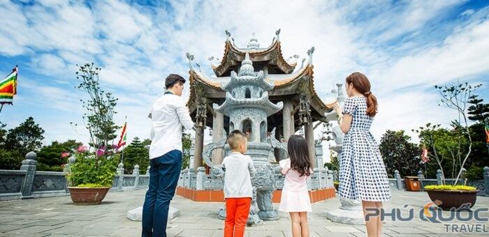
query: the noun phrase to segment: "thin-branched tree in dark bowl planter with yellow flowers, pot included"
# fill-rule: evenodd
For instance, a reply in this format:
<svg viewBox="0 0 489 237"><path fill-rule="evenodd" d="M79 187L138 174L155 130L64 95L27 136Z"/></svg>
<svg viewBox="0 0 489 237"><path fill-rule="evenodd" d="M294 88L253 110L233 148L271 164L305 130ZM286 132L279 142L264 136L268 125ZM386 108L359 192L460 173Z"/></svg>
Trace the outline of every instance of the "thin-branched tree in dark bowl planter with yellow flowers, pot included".
<svg viewBox="0 0 489 237"><path fill-rule="evenodd" d="M438 129L439 125L426 125L426 128L416 130L420 133L423 146L430 148L434 158L439 166L441 174L440 185L426 185L424 190L433 203L444 210L456 210L458 208L470 208L476 202L476 188L465 185L462 171L465 162L472 152L472 137L470 135L467 103L474 96L474 91L481 85L472 86L465 84L453 84L446 86L435 86L435 89L441 95L441 104L448 108L454 109L458 113L458 120L452 122L453 130ZM453 185L446 185L444 167L442 161L444 158L451 159L453 164L452 175L455 177ZM429 160L429 159L428 159ZM463 185L458 185L462 180Z"/></svg>

